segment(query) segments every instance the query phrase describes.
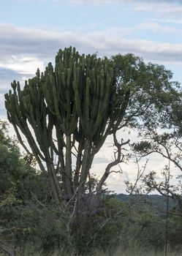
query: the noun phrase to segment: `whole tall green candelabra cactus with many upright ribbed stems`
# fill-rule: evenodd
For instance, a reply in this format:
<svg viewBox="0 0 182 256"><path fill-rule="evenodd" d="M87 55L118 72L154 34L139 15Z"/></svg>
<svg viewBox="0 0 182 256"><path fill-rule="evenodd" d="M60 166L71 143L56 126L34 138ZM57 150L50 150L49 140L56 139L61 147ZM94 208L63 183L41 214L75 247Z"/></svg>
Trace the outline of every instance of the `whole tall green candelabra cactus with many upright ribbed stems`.
<svg viewBox="0 0 182 256"><path fill-rule="evenodd" d="M112 62L65 48L58 51L55 69L50 63L41 75L38 69L23 90L15 81L12 89L5 94L7 116L20 143L26 148L19 129L41 169L48 171L56 200L62 196L57 170L61 170L67 200L78 187L84 192L94 155L121 122L129 99L128 91L117 92ZM75 170L73 147L77 148ZM57 169L53 164L56 156Z"/></svg>

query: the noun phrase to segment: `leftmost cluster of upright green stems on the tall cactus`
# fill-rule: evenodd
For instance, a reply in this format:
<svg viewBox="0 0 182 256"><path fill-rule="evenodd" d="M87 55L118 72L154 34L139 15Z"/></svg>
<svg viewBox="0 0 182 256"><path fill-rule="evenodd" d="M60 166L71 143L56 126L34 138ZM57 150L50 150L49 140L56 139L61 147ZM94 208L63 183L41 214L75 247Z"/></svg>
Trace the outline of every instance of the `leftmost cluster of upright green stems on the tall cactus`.
<svg viewBox="0 0 182 256"><path fill-rule="evenodd" d="M50 113L48 113L48 108L44 102L39 69L37 70L37 76L29 80L29 83L26 82L23 91L20 90L20 84L15 81L12 83L12 89L13 93L9 91L9 94L5 94L5 106L9 121L13 124L20 143L29 152L20 137L19 129L26 136L31 151L42 171L45 171L42 161L46 162L53 195L56 201L59 202L61 200L61 189L53 167L53 155L51 155L53 120L48 118L47 122ZM34 129L34 136L29 124Z"/></svg>

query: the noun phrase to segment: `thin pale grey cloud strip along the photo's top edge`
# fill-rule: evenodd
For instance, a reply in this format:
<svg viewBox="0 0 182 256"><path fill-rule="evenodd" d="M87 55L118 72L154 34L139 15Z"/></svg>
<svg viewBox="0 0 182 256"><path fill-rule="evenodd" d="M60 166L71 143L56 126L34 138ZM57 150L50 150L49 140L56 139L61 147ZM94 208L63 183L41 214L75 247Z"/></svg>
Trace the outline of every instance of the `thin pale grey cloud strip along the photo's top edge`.
<svg viewBox="0 0 182 256"><path fill-rule="evenodd" d="M153 18L167 19L167 20L182 20L182 0L14 0L17 2L26 2L36 4L37 2L42 4L51 4L58 6L78 6L81 7L98 7L98 8L109 8L117 5L117 8L126 10L135 15L140 15L140 12L147 12L153 15Z"/></svg>

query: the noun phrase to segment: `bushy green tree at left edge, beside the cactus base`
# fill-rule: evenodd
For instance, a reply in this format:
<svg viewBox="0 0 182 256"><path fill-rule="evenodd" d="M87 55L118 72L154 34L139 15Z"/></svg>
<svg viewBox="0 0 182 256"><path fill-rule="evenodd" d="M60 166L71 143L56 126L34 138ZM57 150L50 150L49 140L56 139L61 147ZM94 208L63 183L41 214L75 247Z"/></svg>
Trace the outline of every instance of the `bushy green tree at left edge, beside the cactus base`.
<svg viewBox="0 0 182 256"><path fill-rule="evenodd" d="M20 154L7 130L0 121L0 249L30 238L42 215L37 205L51 203L47 176L31 166L31 157Z"/></svg>

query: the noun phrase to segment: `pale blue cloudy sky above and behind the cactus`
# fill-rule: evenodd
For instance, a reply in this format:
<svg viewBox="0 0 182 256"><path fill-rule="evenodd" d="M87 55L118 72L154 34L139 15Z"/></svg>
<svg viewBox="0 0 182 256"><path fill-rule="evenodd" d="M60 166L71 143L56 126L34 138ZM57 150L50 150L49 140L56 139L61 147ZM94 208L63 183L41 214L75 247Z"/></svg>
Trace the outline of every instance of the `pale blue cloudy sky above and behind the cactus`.
<svg viewBox="0 0 182 256"><path fill-rule="evenodd" d="M80 53L113 56L134 53L163 64L182 82L182 0L6 0L0 9L0 118L6 118L4 93L12 80L34 76L58 49L74 46ZM111 143L95 160L94 172L111 159ZM163 165L154 157L156 166ZM108 184L124 192L134 181L133 167L110 176ZM99 173L101 175L101 173Z"/></svg>

